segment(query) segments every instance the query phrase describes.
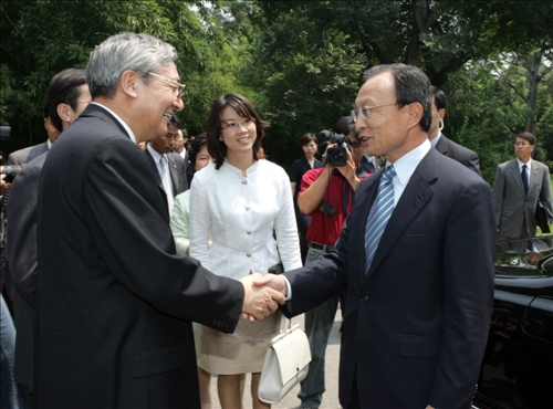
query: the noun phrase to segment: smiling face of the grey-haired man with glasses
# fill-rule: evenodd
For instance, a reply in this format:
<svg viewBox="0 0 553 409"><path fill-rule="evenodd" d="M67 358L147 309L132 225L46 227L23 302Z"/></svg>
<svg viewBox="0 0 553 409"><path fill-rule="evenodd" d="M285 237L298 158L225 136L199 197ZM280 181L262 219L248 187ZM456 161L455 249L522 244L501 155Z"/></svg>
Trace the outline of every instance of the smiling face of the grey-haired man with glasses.
<svg viewBox="0 0 553 409"><path fill-rule="evenodd" d="M170 63L156 74L180 82L175 63ZM159 76L150 75L147 84L142 80L136 81L137 126L133 128L133 132L137 140L154 139L167 134L170 116L184 108L178 87Z"/></svg>

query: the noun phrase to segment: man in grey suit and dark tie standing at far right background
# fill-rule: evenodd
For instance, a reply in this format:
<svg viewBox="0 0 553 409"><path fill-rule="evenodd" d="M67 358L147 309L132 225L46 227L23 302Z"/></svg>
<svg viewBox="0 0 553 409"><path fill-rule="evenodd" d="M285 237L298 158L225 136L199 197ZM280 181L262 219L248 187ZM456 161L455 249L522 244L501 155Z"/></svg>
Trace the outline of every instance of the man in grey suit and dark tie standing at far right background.
<svg viewBox="0 0 553 409"><path fill-rule="evenodd" d="M535 237L538 200L549 223L553 218L550 170L532 159L534 148L535 136L522 132L514 140L517 158L498 166L493 182L498 240Z"/></svg>

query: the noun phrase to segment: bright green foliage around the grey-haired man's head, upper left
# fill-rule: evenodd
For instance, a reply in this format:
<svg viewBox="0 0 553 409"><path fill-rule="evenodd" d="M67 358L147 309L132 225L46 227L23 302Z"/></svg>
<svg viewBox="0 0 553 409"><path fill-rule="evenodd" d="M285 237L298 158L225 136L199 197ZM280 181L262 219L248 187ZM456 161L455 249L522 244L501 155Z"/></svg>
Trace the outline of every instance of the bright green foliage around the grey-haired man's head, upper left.
<svg viewBox="0 0 553 409"><path fill-rule="evenodd" d="M218 2L177 0L4 0L0 49L0 120L12 126L2 143L11 151L45 139L42 127L45 88L58 72L85 67L91 51L118 32L145 32L173 44L187 84L179 114L194 133L205 129L211 102L233 88L237 57L222 34ZM229 70L230 67L230 70ZM9 102L9 103L8 103Z"/></svg>

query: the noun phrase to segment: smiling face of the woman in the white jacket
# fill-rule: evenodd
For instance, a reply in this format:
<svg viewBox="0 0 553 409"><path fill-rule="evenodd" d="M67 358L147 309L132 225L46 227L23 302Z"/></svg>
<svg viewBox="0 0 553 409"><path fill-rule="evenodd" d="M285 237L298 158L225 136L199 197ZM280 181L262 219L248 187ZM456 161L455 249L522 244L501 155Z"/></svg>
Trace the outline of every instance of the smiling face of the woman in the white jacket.
<svg viewBox="0 0 553 409"><path fill-rule="evenodd" d="M240 116L231 106L227 106L221 113L222 126L219 140L227 146L227 158L230 161L238 156L251 155L253 157L252 147L258 133L255 123L248 119L251 118Z"/></svg>

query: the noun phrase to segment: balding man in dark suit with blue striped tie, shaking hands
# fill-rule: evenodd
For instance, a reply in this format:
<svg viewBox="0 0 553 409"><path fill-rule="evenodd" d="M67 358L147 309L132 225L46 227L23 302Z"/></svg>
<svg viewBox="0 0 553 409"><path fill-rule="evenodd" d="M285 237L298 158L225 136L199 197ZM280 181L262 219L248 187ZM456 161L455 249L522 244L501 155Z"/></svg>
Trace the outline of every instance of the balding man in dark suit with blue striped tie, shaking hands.
<svg viewBox="0 0 553 409"><path fill-rule="evenodd" d="M470 408L493 302L491 189L431 148L417 67L371 69L356 106L359 138L386 169L358 185L335 251L257 284L291 285L290 315L346 290L344 408Z"/></svg>

